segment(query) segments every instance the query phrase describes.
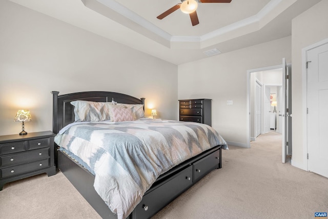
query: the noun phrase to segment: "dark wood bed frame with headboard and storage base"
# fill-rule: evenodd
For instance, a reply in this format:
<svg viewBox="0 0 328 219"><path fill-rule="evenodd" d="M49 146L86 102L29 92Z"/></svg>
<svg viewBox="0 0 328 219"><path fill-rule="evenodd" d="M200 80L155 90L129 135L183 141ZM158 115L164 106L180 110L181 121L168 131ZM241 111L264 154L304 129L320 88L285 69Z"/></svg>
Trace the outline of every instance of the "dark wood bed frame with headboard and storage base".
<svg viewBox="0 0 328 219"><path fill-rule="evenodd" d="M55 134L61 128L74 122L74 107L70 104L71 101L111 102L113 100L124 104L145 104L145 98L139 99L115 92L89 91L64 95L58 95L58 91L51 93L53 94L53 132ZM55 146L55 148L58 147ZM101 217L117 218L95 191L94 175L67 154L57 150L55 164ZM179 164L157 178L128 218L150 218L203 176L221 167L221 146L213 147Z"/></svg>

